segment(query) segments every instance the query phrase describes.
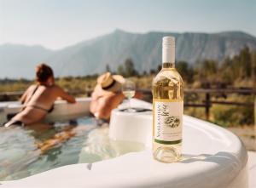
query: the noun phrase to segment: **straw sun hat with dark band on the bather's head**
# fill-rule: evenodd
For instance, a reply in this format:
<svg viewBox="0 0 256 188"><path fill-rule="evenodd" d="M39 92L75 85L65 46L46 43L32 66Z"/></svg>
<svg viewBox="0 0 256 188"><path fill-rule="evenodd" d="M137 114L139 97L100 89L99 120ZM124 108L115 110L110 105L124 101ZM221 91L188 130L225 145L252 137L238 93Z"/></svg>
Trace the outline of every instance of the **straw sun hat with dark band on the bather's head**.
<svg viewBox="0 0 256 188"><path fill-rule="evenodd" d="M121 75L112 75L108 71L97 78L97 83L103 90L117 92L121 90L125 78Z"/></svg>

